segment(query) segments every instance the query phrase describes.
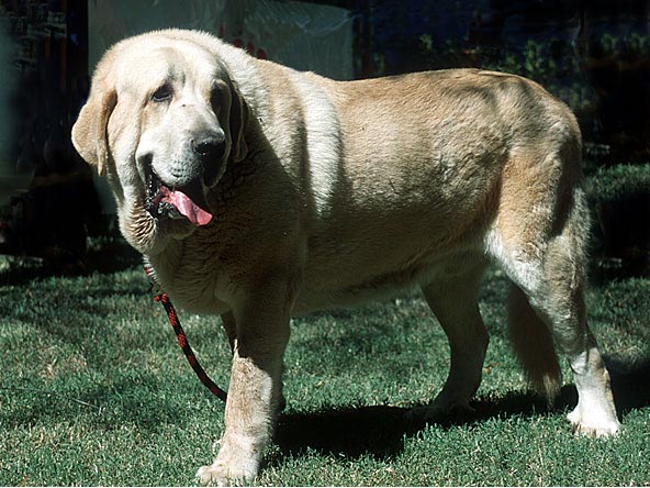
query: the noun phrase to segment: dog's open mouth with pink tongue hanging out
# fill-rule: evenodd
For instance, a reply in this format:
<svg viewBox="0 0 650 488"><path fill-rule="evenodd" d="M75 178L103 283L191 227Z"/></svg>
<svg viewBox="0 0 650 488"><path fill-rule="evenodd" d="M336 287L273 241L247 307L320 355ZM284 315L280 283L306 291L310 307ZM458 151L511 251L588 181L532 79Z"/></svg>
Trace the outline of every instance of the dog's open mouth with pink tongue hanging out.
<svg viewBox="0 0 650 488"><path fill-rule="evenodd" d="M146 209L155 219L187 219L194 225L206 225L212 221L199 179L182 188L172 188L165 185L153 168L147 168Z"/></svg>

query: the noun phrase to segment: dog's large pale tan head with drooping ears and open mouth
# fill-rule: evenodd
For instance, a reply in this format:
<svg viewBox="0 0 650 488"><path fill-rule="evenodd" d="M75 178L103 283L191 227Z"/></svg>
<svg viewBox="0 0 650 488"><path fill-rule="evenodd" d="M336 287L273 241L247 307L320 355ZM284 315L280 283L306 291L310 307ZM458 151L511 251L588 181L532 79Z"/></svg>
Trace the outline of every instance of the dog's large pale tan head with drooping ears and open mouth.
<svg viewBox="0 0 650 488"><path fill-rule="evenodd" d="M210 189L246 154L246 110L225 64L194 33L144 34L104 55L72 143L109 178L136 248L211 222Z"/></svg>

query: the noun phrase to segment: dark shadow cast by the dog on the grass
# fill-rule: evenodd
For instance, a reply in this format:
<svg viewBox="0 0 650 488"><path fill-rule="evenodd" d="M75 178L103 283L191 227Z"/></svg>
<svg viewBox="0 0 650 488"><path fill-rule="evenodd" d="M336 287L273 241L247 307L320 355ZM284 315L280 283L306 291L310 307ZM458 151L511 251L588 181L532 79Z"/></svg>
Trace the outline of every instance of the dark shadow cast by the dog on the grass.
<svg viewBox="0 0 650 488"><path fill-rule="evenodd" d="M635 365L608 362L612 388L619 417L634 409L650 406L650 358ZM553 411L572 409L578 402L573 385L564 386ZM548 411L546 402L534 392L509 392L498 398L479 398L473 412L440 414L429 419L414 413L418 407L388 406L343 408L316 413L287 413L279 420L276 444L281 452L300 454L307 448L348 457L370 455L386 459L400 454L404 440L416 435L427 424L440 429L466 425L489 419L531 418ZM624 419L625 423L625 419Z"/></svg>

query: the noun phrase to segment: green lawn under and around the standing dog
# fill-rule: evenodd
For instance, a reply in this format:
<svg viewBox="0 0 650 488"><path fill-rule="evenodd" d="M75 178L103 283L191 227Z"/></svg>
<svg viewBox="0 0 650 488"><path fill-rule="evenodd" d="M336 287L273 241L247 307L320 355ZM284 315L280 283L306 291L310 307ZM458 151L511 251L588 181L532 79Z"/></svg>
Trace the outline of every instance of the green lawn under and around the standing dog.
<svg viewBox="0 0 650 488"><path fill-rule="evenodd" d="M224 408L187 365L141 268L115 263L65 278L0 260L0 485L189 485L211 462ZM587 296L625 426L607 441L570 434L568 374L550 411L529 391L506 340L505 290L491 271L475 413L428 425L408 412L436 395L449 354L419 297L295 320L288 407L257 483L650 485L650 279L596 281ZM181 321L227 386L218 319Z"/></svg>

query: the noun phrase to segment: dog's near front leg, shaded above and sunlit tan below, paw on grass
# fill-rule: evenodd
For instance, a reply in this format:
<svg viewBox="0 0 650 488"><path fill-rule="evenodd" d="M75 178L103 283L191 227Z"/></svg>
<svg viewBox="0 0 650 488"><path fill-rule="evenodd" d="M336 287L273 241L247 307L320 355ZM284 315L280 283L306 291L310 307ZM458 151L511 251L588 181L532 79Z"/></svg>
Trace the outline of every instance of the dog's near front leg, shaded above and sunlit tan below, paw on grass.
<svg viewBox="0 0 650 488"><path fill-rule="evenodd" d="M216 459L197 474L202 485L247 483L258 473L282 398L291 314L287 288L267 286L233 309L236 340L225 431Z"/></svg>

